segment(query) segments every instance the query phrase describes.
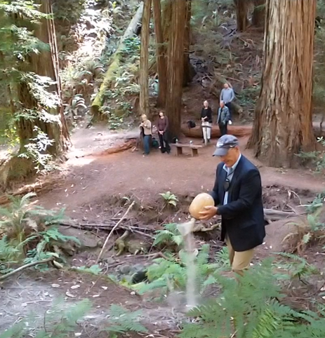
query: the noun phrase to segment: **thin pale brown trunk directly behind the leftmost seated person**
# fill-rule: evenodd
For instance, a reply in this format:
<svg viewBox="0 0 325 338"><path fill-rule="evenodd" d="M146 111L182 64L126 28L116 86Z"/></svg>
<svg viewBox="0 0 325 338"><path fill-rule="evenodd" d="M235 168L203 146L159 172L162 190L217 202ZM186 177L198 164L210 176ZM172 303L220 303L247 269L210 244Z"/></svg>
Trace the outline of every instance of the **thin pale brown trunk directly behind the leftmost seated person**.
<svg viewBox="0 0 325 338"><path fill-rule="evenodd" d="M142 15L140 47L140 114L149 114L149 39L150 39L151 0L145 0Z"/></svg>

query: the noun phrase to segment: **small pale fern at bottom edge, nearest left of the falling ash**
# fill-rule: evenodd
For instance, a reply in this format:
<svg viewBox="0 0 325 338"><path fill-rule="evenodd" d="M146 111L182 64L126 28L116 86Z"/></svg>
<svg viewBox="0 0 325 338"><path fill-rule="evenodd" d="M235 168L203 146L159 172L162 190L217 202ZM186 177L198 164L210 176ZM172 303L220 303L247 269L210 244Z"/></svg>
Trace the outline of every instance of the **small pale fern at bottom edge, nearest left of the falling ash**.
<svg viewBox="0 0 325 338"><path fill-rule="evenodd" d="M109 327L105 330L112 334L126 332L146 333L147 329L139 323L140 311L128 311L122 306L111 305L110 318L108 318ZM0 337L1 338L1 337Z"/></svg>

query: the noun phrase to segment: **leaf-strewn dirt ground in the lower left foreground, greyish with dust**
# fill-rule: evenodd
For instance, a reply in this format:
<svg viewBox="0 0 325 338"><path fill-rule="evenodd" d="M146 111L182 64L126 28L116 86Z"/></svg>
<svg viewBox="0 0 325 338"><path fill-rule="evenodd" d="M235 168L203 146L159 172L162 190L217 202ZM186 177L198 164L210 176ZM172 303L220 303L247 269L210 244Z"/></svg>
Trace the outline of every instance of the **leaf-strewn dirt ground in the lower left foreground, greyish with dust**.
<svg viewBox="0 0 325 338"><path fill-rule="evenodd" d="M113 283L105 275L100 277L92 273L58 270L42 273L29 271L15 280L6 281L2 286L0 334L13 323L26 318L32 330L44 324L46 311L53 304L60 304L61 309L67 309L82 299L88 299L92 309L76 331L82 332L82 335L75 337L107 337L107 333L98 335L98 332L107 327L111 304L131 311L142 309L140 320L152 332L178 330L177 325L185 317L175 306L145 302L142 297Z"/></svg>

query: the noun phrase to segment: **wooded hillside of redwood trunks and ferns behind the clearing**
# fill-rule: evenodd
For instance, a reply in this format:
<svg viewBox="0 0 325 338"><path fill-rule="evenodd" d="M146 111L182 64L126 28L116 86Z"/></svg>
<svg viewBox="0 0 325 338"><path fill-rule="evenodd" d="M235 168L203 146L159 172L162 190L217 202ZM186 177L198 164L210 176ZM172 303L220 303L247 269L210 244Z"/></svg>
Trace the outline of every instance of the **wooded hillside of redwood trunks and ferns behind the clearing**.
<svg viewBox="0 0 325 338"><path fill-rule="evenodd" d="M276 13L284 4L288 13ZM165 0L145 1L145 6L141 2L140 7L138 1L71 1L69 5L53 1L53 6L39 1L35 6L33 1L1 4L1 143L3 148L9 145L18 150L2 165L1 187L35 170L51 170L56 158L63 160L69 132L81 122L91 126L107 121L111 129L131 128L140 114L154 119L162 108L171 121L172 135L179 137L183 123L197 120L201 102L193 99L211 100L216 111L226 81L237 95L237 124L255 121L249 145L255 147L256 156L275 166L295 166L301 163L299 157L307 163L319 158L311 121L323 121L322 1L312 1L310 10L303 4L294 8L291 1ZM276 57L279 64L273 64L274 72L291 62L297 70L284 71L298 74L299 67L306 69L311 58L313 69L303 76L308 84L294 76L288 79L298 86L286 89L292 91L291 98L270 102L267 97L274 83L285 80L270 73L262 81L263 39L267 50L267 43L272 44L269 36L276 29L279 34L289 32L286 15L294 11L292 20L303 22L303 29L291 27L293 35L288 35L283 46L288 50L306 46L305 60L297 56L285 61L291 56L284 50ZM275 26L279 15L284 18L282 27ZM299 46L293 46L295 34ZM274 62L275 56L270 58ZM183 67L178 67L180 62ZM284 85L279 87L279 96L282 92ZM258 97L263 109L256 105ZM265 109L273 107L272 111L276 104L281 105L284 117L274 124L274 116L265 120L267 114L272 115ZM303 116L310 117L303 121ZM293 121L301 121L300 126ZM264 130L274 130L272 135L261 135L267 125L270 128ZM317 133L321 135L321 130Z"/></svg>

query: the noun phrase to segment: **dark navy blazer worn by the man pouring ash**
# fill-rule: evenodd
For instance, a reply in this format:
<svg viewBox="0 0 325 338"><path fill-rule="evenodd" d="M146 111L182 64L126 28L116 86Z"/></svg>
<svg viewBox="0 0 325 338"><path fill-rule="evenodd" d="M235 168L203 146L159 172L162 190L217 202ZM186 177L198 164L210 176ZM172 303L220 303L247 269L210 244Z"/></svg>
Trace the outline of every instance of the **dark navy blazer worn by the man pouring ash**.
<svg viewBox="0 0 325 338"><path fill-rule="evenodd" d="M215 206L218 206L218 215L222 217L221 238L224 241L227 234L235 251L251 250L262 244L265 238L260 172L241 155L232 176L227 204L223 205L223 183L227 175L223 165L219 163L217 167L215 184L210 193Z"/></svg>

